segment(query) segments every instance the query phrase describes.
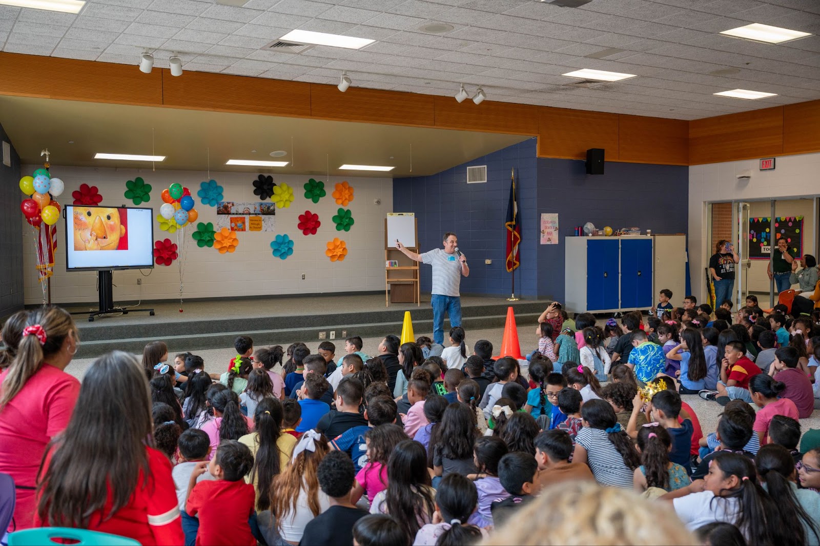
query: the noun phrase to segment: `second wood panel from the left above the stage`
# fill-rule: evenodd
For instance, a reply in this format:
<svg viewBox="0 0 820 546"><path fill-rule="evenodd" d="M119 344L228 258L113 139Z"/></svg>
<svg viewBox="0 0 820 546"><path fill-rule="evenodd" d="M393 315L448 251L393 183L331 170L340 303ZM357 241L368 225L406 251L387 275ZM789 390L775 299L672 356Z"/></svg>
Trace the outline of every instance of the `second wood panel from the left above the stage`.
<svg viewBox="0 0 820 546"><path fill-rule="evenodd" d="M300 81L193 71L175 78L170 71L162 70L162 91L162 104L167 107L268 116L311 115L310 84Z"/></svg>

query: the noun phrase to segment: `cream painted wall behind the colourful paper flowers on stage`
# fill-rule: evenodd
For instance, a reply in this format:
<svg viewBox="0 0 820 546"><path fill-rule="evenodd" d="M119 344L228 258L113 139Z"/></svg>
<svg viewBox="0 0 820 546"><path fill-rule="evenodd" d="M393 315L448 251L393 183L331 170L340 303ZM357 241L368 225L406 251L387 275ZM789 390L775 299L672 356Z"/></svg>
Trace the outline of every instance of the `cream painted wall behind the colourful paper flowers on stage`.
<svg viewBox="0 0 820 546"><path fill-rule="evenodd" d="M36 166L23 166L23 172ZM215 221L216 207L207 207L196 198L199 184L207 180L204 171L151 171L150 169L106 169L52 166L52 175L66 183L66 192L58 201L72 202L71 192L86 183L96 185L103 195L103 205L133 206L125 199L125 181L142 176L152 185L151 201L140 206L153 207L154 216L162 205L160 194L170 184L187 186L196 200L198 221ZM211 177L225 188L225 200L254 202L254 173L211 172ZM285 182L294 188L296 196L289 208L276 210L276 232L239 233L235 253L220 254L214 248L198 248L191 238L192 229L185 228L184 298L211 298L224 296L254 296L262 294L354 292L383 289L385 284L385 215L393 211L393 180L388 178L315 176L325 180L327 196L314 204L304 198L303 184L311 175L274 175L276 183ZM350 231L336 231L331 217L339 205L331 197L334 185L342 180L354 188L354 200L349 209L355 223ZM374 204L374 199L381 204ZM317 212L321 227L317 234L305 236L297 229L298 215L310 210ZM22 221L22 215L21 215ZM66 271L65 223L59 221L57 230L57 257L52 276L52 302L96 302L97 274ZM195 226L194 226L195 229ZM289 234L295 240L294 254L286 260L273 257L271 240L276 234ZM25 303L41 303L43 292L34 269L34 238L24 222ZM339 237L348 246L344 262L330 262L325 256L327 241ZM169 238L176 243L176 234L167 234L154 222L154 240ZM157 266L153 271L114 271L114 301L133 302L143 299L179 298L180 261L171 266ZM302 274L305 280L302 280ZM141 285L137 279L142 279Z"/></svg>

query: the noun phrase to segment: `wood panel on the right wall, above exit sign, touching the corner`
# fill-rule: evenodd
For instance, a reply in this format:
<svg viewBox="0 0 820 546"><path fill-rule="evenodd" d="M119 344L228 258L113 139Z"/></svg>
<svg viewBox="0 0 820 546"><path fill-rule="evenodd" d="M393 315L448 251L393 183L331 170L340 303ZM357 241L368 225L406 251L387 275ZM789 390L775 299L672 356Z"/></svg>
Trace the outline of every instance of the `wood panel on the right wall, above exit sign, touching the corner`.
<svg viewBox="0 0 820 546"><path fill-rule="evenodd" d="M690 121L690 165L783 153L783 107Z"/></svg>

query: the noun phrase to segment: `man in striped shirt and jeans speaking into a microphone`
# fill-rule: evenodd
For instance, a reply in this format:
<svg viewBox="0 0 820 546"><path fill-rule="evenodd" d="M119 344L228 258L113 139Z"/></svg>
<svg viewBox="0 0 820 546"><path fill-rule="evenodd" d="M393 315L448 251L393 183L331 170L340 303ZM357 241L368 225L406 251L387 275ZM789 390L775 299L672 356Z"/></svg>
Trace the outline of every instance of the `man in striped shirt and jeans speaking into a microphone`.
<svg viewBox="0 0 820 546"><path fill-rule="evenodd" d="M444 248L434 248L426 253L417 254L396 240L396 248L405 256L433 267L430 306L433 307L433 341L437 344L444 344L444 312L450 317L451 327L461 325L461 296L458 287L462 275L470 275L467 257L458 251L456 234L449 231L445 233L443 244Z"/></svg>

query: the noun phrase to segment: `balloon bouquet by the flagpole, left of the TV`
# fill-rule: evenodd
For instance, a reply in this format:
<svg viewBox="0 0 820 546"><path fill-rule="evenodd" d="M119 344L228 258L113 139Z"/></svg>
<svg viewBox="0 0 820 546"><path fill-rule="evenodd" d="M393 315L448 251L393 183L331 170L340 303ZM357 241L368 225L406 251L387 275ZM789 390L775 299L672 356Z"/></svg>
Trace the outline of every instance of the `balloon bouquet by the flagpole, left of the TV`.
<svg viewBox="0 0 820 546"><path fill-rule="evenodd" d="M66 189L66 184L63 184L62 180L52 178L48 171L49 166L47 155L43 168L37 169L31 176L20 179L20 189L28 196L20 203L20 209L35 236L35 255L43 288L43 303L46 303L45 282L54 274L54 253L57 251L56 224L62 211L60 203L55 198L62 195Z"/></svg>

